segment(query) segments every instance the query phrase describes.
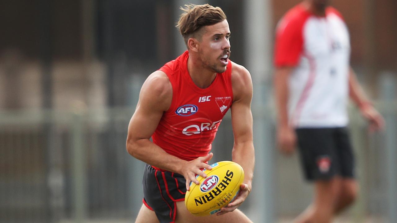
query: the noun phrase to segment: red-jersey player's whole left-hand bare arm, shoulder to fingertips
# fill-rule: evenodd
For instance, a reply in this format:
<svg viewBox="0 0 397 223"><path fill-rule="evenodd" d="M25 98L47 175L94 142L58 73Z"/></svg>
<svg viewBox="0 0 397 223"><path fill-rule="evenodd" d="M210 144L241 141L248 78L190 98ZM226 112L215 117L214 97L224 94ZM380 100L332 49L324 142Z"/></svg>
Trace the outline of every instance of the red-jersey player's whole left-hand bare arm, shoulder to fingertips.
<svg viewBox="0 0 397 223"><path fill-rule="evenodd" d="M162 71L152 73L143 83L139 102L128 125L127 151L131 156L145 163L182 174L189 190L191 181L198 184L195 174L206 175L200 168L211 169L204 163L212 158L212 153L192 161L185 161L172 156L150 141L163 113L168 110L172 101L172 86Z"/></svg>

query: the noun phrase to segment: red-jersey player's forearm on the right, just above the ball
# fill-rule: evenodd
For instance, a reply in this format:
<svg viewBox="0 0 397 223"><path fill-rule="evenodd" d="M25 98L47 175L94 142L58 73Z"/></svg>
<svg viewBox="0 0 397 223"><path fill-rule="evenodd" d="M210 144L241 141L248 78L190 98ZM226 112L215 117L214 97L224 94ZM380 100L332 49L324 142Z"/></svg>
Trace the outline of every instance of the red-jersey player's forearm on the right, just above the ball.
<svg viewBox="0 0 397 223"><path fill-rule="evenodd" d="M232 160L243 167L244 183L251 189L255 165L254 143L251 140L241 143L235 142L232 151Z"/></svg>

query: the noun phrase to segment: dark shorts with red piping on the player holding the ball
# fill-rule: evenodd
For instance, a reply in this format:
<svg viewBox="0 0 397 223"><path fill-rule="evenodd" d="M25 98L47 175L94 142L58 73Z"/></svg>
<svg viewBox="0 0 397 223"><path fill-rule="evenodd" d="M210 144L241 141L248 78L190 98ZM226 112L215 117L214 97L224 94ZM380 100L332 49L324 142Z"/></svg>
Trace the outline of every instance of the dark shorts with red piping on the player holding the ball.
<svg viewBox="0 0 397 223"><path fill-rule="evenodd" d="M183 175L155 169L146 164L143 175L143 203L156 213L160 223L175 221L176 202L185 200Z"/></svg>

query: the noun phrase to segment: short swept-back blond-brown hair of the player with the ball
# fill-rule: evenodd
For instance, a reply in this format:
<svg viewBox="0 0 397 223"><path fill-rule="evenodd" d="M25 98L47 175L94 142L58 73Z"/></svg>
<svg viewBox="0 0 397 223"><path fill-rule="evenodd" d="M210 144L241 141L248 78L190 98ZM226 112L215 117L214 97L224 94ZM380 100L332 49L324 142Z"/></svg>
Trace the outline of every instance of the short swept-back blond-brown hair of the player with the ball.
<svg viewBox="0 0 397 223"><path fill-rule="evenodd" d="M221 8L209 4L185 5L185 8L181 7L181 10L183 13L179 17L176 27L185 40L185 44L191 37L201 38L197 34L202 27L214 25L226 19L226 15Z"/></svg>

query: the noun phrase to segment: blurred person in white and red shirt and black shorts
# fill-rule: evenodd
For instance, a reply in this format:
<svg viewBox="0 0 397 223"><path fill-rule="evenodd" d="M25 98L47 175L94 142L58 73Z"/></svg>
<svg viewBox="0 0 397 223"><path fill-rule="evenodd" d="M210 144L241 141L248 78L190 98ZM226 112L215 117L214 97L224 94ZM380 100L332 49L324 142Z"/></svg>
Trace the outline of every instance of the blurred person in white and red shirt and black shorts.
<svg viewBox="0 0 397 223"><path fill-rule="evenodd" d="M331 222L357 196L347 129L349 96L370 131L384 126L349 60L347 26L328 0L305 0L279 21L274 58L278 145L284 154L298 145L304 175L314 182L314 200L297 223Z"/></svg>

